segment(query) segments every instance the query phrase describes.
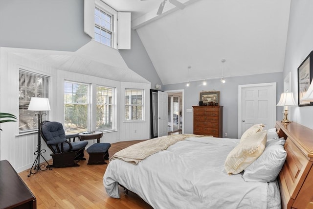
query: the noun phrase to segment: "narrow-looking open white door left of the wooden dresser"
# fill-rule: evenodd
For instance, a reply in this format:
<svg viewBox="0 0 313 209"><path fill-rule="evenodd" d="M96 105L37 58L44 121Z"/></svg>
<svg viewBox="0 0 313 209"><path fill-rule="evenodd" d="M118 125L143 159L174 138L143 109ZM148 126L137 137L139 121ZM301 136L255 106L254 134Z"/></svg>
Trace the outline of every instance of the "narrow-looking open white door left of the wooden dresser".
<svg viewBox="0 0 313 209"><path fill-rule="evenodd" d="M157 92L157 137L167 135L167 93Z"/></svg>

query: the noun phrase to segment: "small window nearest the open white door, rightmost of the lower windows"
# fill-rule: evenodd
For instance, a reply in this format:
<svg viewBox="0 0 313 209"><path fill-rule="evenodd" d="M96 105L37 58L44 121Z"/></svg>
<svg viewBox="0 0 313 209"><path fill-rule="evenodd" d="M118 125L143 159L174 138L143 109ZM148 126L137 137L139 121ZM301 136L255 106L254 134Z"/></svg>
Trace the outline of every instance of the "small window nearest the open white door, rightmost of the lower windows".
<svg viewBox="0 0 313 209"><path fill-rule="evenodd" d="M143 120L142 89L125 89L125 120Z"/></svg>

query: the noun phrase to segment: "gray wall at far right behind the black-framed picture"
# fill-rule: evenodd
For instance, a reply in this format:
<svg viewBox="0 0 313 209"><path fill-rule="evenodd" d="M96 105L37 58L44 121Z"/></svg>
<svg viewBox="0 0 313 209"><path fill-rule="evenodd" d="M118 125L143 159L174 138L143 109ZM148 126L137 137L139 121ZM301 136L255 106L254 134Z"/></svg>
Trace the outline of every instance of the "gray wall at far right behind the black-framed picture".
<svg viewBox="0 0 313 209"><path fill-rule="evenodd" d="M313 50L313 0L291 0L284 77L291 72L291 91L298 102L297 69ZM313 81L312 81L313 82ZM313 106L292 107L292 120L313 129Z"/></svg>

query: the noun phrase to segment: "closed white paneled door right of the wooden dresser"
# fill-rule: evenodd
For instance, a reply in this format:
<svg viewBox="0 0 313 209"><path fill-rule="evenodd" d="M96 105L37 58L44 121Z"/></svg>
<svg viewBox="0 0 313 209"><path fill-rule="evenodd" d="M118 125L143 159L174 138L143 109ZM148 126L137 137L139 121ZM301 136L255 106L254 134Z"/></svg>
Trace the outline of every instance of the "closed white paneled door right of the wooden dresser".
<svg viewBox="0 0 313 209"><path fill-rule="evenodd" d="M276 122L276 83L239 85L238 138L254 124L269 129Z"/></svg>

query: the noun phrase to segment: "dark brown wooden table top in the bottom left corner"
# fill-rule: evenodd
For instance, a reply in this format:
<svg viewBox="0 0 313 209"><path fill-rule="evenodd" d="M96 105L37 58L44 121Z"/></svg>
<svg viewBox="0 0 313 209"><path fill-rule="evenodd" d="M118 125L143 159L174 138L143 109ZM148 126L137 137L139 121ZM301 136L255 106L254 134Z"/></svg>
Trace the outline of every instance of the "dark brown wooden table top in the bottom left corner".
<svg viewBox="0 0 313 209"><path fill-rule="evenodd" d="M0 209L36 209L36 197L12 165L0 161Z"/></svg>

